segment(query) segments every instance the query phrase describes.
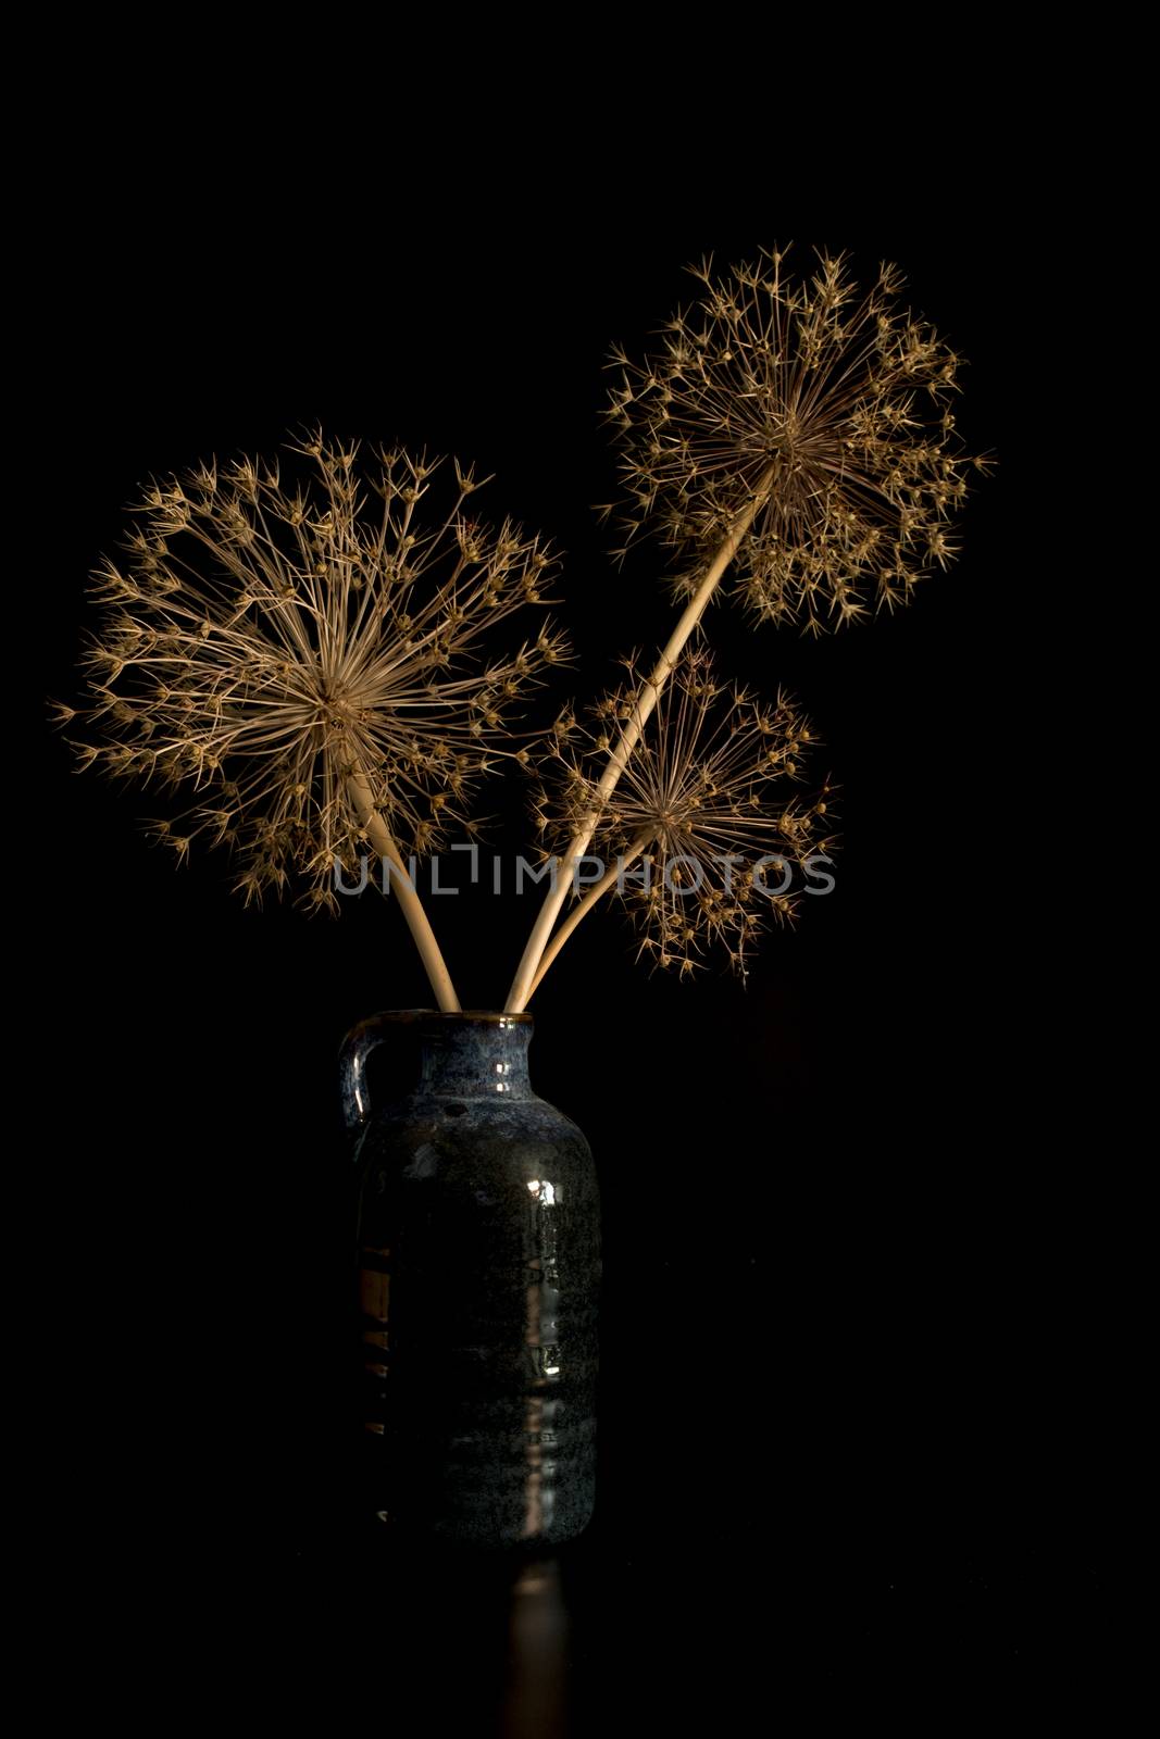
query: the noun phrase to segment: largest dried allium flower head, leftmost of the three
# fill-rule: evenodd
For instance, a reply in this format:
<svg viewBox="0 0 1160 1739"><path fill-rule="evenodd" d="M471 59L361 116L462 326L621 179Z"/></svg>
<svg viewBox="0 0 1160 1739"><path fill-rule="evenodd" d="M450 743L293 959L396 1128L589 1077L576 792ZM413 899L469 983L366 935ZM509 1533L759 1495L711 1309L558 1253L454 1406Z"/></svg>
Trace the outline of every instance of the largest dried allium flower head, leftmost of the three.
<svg viewBox="0 0 1160 1739"><path fill-rule="evenodd" d="M351 779L403 852L470 828L473 781L511 753L511 703L563 643L543 626L480 664L487 630L544 602L553 556L471 518L480 485L457 463L428 525L442 461L381 452L363 482L357 449L322 435L287 452L294 485L240 459L146 490L129 562L94 576L104 619L70 716L103 737L77 744L82 765L197 793L157 824L179 859L205 836L235 849L247 903L301 873L334 909L336 859L365 850Z"/></svg>

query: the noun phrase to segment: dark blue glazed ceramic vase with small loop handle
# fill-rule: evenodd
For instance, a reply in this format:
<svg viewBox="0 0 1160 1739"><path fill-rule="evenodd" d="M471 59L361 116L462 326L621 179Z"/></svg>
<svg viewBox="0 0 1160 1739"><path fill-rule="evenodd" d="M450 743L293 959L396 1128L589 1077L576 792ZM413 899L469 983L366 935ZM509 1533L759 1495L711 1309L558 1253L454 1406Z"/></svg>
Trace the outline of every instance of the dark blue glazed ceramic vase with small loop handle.
<svg viewBox="0 0 1160 1739"><path fill-rule="evenodd" d="M376 1532L543 1548L595 1502L600 1196L532 1092L529 1014L403 1010L341 1057L357 1136L358 1508ZM367 1059L414 1047L372 1106Z"/></svg>

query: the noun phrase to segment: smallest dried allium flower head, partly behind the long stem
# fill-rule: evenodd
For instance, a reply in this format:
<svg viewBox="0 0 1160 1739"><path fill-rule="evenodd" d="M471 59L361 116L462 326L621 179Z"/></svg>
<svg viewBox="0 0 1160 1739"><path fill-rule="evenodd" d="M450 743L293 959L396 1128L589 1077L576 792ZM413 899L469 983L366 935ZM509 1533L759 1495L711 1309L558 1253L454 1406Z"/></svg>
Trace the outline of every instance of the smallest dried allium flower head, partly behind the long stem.
<svg viewBox="0 0 1160 1739"><path fill-rule="evenodd" d="M638 956L682 976L720 943L741 976L765 916L791 920L823 835L831 786L791 795L812 739L779 694L774 706L720 683L708 652L685 654L661 690L619 783L600 803L609 748L640 694L635 659L626 682L581 722L565 711L548 743L548 788L537 793L541 831L570 838L598 810L590 852L609 870L637 920ZM546 847L548 850L550 847Z"/></svg>

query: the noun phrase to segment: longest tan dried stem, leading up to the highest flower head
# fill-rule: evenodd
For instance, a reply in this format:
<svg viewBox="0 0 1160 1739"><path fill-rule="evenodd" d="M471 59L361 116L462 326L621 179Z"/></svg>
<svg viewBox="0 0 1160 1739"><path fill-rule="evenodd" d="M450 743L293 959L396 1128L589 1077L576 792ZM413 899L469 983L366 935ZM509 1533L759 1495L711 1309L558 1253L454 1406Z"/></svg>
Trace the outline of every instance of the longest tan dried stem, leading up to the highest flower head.
<svg viewBox="0 0 1160 1739"><path fill-rule="evenodd" d="M536 974L539 970L539 962L544 956L544 949L548 948L548 941L555 929L557 918L560 916L563 901L567 899L576 864L588 850L593 831L597 828L597 821L600 819L600 810L609 793L616 790L617 781L628 763L628 756L640 743L640 732L652 716L652 710L656 708L661 697L661 690L664 689L664 683L677 668L677 661L680 659L680 654L685 649L692 631L704 616L708 602L717 591L718 584L722 583L725 569L737 553L744 534L750 530L750 525L753 523L755 515L765 503L765 497L769 496L774 480L774 470L776 468L772 464L767 466L767 470L758 478L750 504L734 520L732 530L729 532L723 544L713 556L704 574L704 579L697 586L697 591L685 605L682 617L677 623L677 628L670 635L668 645L664 647L661 657L656 663L652 675L640 687L631 718L621 730L619 741L616 743L616 746L609 755L609 765L605 767L603 777L600 779L600 784L597 788L597 800L591 810L584 816L576 833L572 835L572 842L565 856L557 864L555 887L550 889L548 897L544 899L544 904L539 911L539 918L536 920L532 934L527 939L523 958L520 960L520 967L508 993L508 1002L506 1002L508 1014L522 1014L530 1000L532 988L536 983Z"/></svg>

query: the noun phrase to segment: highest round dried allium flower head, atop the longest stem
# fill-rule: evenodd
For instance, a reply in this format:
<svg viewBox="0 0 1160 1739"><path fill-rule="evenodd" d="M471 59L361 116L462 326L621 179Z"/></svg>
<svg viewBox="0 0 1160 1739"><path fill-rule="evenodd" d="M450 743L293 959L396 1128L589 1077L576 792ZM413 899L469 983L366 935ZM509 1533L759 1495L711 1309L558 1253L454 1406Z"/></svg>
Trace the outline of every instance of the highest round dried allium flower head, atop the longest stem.
<svg viewBox="0 0 1160 1739"><path fill-rule="evenodd" d="M678 596L736 516L762 497L737 555L737 588L772 623L821 633L910 602L955 555L951 513L970 466L950 403L962 358L906 311L882 266L861 296L845 257L817 256L802 283L784 250L703 283L643 363L612 353L621 384L607 417L623 436L633 501L624 555L645 525L689 551ZM610 513L605 508L605 516Z"/></svg>

